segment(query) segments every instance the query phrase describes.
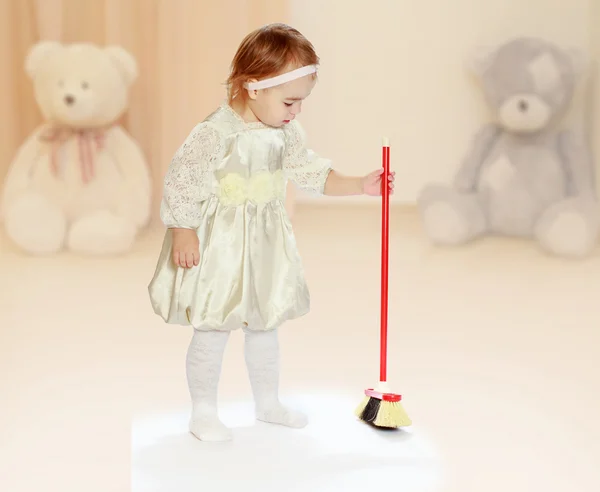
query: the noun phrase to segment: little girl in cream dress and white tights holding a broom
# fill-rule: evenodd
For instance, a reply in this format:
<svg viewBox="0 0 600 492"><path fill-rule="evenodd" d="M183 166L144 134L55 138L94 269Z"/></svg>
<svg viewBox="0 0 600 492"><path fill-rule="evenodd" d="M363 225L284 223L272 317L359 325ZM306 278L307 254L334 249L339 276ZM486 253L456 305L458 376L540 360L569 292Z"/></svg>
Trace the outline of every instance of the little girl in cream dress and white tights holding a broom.
<svg viewBox="0 0 600 492"><path fill-rule="evenodd" d="M289 26L250 33L232 62L228 100L191 131L165 177L161 219L168 230L149 293L167 323L194 328L189 425L202 441L232 437L218 417L217 387L226 342L239 328L256 418L307 424L278 397L277 330L310 306L284 208L286 181L316 195L381 193L382 169L345 177L304 145L296 116L318 63L311 43Z"/></svg>

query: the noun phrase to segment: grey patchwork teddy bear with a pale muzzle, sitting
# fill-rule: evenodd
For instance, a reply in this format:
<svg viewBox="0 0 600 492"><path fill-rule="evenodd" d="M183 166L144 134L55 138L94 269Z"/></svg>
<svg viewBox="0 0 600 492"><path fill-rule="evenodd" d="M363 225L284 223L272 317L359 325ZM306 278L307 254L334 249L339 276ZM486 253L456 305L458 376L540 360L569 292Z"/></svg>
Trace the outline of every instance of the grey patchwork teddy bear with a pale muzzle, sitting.
<svg viewBox="0 0 600 492"><path fill-rule="evenodd" d="M479 56L473 68L492 121L475 135L453 183L417 199L434 244L483 235L530 238L548 254L588 256L600 213L591 149L562 128L583 56L543 39L519 37Z"/></svg>

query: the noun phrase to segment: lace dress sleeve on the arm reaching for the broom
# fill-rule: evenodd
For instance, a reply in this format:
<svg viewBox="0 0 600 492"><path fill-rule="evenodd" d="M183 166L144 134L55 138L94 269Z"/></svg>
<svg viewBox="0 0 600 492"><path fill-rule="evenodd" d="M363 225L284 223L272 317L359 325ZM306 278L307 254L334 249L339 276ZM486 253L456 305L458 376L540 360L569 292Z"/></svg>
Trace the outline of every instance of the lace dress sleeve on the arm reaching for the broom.
<svg viewBox="0 0 600 492"><path fill-rule="evenodd" d="M300 123L293 121L288 124L283 159L286 176L303 191L311 195L323 195L331 169L331 160L322 158L306 148L306 139Z"/></svg>

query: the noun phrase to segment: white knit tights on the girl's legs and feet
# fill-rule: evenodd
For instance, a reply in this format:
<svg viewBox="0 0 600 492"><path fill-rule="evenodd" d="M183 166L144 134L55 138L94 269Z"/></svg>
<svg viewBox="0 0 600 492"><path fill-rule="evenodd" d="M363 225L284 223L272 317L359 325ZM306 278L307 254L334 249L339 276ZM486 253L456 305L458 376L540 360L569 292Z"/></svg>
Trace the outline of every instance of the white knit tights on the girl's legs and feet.
<svg viewBox="0 0 600 492"><path fill-rule="evenodd" d="M279 402L279 342L277 331L252 332L245 329L244 355L256 405L256 418L263 422L304 427L305 415ZM217 393L223 353L229 332L198 331L190 343L186 372L192 417L190 431L202 441L227 441L230 429L219 420Z"/></svg>

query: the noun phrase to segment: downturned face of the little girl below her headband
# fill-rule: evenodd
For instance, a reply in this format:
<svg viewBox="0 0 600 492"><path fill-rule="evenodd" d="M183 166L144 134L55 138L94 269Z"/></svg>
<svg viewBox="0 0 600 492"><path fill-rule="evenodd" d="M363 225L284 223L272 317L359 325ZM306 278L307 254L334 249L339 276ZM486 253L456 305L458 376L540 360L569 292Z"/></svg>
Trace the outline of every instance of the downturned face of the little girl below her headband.
<svg viewBox="0 0 600 492"><path fill-rule="evenodd" d="M300 113L302 102L310 95L316 82L316 77L311 74L256 93L250 91L248 105L266 125L284 126Z"/></svg>

